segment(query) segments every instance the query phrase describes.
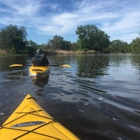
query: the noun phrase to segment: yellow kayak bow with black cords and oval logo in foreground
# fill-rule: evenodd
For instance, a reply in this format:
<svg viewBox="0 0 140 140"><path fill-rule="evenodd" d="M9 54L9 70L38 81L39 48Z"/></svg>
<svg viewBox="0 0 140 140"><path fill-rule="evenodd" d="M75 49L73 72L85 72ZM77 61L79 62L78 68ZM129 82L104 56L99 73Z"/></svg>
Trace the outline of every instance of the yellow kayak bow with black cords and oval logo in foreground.
<svg viewBox="0 0 140 140"><path fill-rule="evenodd" d="M79 140L28 94L0 127L1 140Z"/></svg>

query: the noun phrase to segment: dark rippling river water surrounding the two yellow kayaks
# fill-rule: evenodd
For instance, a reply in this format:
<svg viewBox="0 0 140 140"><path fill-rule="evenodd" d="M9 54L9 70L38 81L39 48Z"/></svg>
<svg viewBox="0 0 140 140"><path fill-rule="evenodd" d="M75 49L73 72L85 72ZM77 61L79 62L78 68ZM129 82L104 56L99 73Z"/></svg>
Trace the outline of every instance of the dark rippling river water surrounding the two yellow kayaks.
<svg viewBox="0 0 140 140"><path fill-rule="evenodd" d="M140 55L48 56L48 78L28 75L29 57L0 58L0 125L30 93L81 140L140 140ZM23 63L22 68L9 68Z"/></svg>

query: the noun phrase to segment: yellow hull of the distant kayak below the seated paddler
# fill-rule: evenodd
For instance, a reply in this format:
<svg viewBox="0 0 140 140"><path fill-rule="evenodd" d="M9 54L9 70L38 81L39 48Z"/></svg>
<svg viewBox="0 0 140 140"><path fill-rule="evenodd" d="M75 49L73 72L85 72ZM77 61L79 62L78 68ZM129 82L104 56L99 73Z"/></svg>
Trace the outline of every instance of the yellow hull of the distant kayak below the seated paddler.
<svg viewBox="0 0 140 140"><path fill-rule="evenodd" d="M45 77L50 73L50 66L31 66L29 75L32 77Z"/></svg>

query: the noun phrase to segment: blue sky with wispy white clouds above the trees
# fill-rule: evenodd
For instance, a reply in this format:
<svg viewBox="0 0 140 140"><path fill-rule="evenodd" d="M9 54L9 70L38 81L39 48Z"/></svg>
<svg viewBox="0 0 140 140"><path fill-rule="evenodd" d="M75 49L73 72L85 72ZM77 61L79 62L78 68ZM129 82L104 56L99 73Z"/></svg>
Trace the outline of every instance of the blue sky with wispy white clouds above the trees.
<svg viewBox="0 0 140 140"><path fill-rule="evenodd" d="M79 25L96 25L131 43L140 37L140 0L0 0L0 28L25 26L27 39L47 43L55 35L76 42Z"/></svg>

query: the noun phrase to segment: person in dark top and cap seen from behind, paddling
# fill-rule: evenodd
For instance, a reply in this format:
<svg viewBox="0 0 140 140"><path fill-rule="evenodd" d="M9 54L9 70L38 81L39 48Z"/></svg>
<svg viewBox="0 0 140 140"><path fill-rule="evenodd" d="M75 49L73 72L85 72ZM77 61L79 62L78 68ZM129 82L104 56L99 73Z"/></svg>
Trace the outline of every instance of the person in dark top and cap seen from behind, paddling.
<svg viewBox="0 0 140 140"><path fill-rule="evenodd" d="M33 57L31 64L33 66L48 66L49 61L47 57L45 57L44 52L41 49L37 49L35 57Z"/></svg>

